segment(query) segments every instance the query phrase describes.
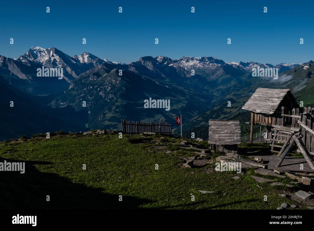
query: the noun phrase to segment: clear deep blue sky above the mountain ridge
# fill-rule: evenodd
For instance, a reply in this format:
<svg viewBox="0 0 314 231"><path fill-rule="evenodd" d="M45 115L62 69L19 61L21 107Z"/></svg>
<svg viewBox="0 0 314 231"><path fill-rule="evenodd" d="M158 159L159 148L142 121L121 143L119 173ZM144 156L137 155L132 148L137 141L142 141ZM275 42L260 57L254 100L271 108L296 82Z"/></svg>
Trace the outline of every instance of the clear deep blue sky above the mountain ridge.
<svg viewBox="0 0 314 231"><path fill-rule="evenodd" d="M148 55L304 63L314 59L313 10L314 1L2 1L0 54L39 46L125 63Z"/></svg>

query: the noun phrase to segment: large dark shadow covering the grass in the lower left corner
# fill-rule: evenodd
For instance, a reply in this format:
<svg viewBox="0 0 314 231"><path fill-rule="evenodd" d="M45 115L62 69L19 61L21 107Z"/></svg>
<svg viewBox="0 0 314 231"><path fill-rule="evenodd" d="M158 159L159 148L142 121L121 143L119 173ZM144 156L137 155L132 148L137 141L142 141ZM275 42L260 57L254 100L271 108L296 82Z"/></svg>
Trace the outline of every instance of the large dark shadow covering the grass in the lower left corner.
<svg viewBox="0 0 314 231"><path fill-rule="evenodd" d="M0 172L0 209L137 209L151 201L133 196L123 196L101 192L100 188L90 188L73 183L54 173L38 171L33 164L50 162L25 162L25 173ZM4 159L0 158L0 162ZM50 201L46 201L46 196Z"/></svg>

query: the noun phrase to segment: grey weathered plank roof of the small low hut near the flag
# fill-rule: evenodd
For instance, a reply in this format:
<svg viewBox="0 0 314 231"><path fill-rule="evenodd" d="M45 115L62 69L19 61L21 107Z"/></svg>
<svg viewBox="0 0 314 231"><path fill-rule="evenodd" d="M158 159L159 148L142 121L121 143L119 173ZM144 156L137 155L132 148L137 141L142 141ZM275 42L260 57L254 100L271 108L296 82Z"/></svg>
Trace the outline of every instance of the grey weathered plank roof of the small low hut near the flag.
<svg viewBox="0 0 314 231"><path fill-rule="evenodd" d="M208 123L209 144L241 144L240 121L210 119Z"/></svg>

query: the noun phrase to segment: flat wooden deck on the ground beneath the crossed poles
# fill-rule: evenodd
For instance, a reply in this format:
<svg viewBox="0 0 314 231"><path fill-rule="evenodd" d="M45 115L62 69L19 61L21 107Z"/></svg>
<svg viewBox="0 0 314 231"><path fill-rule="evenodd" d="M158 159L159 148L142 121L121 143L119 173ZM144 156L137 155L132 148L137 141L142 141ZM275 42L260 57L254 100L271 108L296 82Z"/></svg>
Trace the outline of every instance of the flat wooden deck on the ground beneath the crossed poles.
<svg viewBox="0 0 314 231"><path fill-rule="evenodd" d="M267 164L268 169L275 169L275 165L278 163L278 161L279 157L270 156L269 162ZM314 161L312 161L312 163L314 163ZM300 164L303 164L303 170L300 170ZM310 168L304 157L285 157L281 166L277 169L282 169L284 171L314 173L314 169Z"/></svg>

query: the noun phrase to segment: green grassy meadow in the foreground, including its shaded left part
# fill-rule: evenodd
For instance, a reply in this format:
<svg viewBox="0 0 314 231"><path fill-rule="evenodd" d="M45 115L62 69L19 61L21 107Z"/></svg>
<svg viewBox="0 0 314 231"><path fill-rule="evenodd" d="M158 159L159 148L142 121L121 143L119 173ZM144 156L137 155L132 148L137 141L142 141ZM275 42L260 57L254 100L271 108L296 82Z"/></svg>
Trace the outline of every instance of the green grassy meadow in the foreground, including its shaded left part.
<svg viewBox="0 0 314 231"><path fill-rule="evenodd" d="M250 177L256 175L251 169L240 175L216 172L214 162L202 168L182 167L179 156L199 153L179 148L180 141L159 135L119 139L117 134L69 134L2 142L0 162L26 162L27 168L24 174L1 172L0 207L276 209L291 202L279 197L286 188L257 183ZM290 179L276 180L287 183Z"/></svg>

